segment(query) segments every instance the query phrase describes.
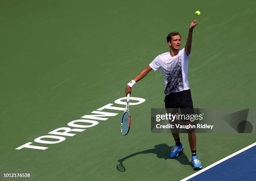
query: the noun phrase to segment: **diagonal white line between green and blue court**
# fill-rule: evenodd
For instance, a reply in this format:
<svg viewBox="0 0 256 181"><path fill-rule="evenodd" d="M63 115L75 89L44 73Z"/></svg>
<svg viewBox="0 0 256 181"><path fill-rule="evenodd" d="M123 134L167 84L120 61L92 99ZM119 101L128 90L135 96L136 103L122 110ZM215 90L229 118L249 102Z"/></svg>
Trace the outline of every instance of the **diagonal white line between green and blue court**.
<svg viewBox="0 0 256 181"><path fill-rule="evenodd" d="M253 143L253 144L251 144L251 145L249 145L249 146L246 146L245 148L243 148L243 149L241 149L241 150L239 150L239 151L236 151L235 153L233 153L233 154L231 154L231 155L225 157L224 159L221 159L221 160L219 160L219 161L217 161L217 162L215 162L215 163L213 163L213 164L211 164L211 165L205 167L204 169L202 169L202 170L200 170L200 171L197 171L197 173L192 174L192 175L186 177L185 179L182 179L181 181L187 181L188 179L191 179L192 177L197 176L198 174L201 174L201 173L204 172L204 171L207 171L208 169L212 168L213 166L218 165L218 164L220 164L221 162L223 162L223 161L225 161L225 160L227 160L227 159L230 159L231 157L236 156L237 154L240 154L241 152L246 151L247 149L249 149L249 148L251 148L251 147L253 147L253 146L256 146L256 142Z"/></svg>

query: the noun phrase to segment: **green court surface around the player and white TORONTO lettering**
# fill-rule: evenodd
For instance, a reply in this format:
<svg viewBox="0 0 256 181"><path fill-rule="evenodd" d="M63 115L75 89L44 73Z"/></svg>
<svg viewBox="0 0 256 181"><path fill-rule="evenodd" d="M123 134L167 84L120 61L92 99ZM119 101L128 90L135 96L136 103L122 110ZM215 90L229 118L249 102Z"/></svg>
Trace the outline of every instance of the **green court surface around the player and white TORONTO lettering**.
<svg viewBox="0 0 256 181"><path fill-rule="evenodd" d="M123 111L105 109L118 115L57 144L34 139L106 104L124 107L114 101L126 84L168 51L169 32L180 32L183 48L195 19L194 107L255 108L255 17L251 0L1 0L0 180L30 173L36 181L176 181L195 173L187 134L184 152L168 159L172 136L151 133L151 108L164 108L161 70L133 87L131 96L146 102L130 106L127 136ZM49 148L15 149L27 142ZM197 134L197 155L206 167L254 142L255 134Z"/></svg>

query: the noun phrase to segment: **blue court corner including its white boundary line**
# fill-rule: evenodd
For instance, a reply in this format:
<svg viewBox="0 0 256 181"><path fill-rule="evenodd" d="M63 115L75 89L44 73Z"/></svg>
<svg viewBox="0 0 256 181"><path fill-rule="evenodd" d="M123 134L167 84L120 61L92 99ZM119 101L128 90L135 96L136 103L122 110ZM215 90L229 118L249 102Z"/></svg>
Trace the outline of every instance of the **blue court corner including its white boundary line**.
<svg viewBox="0 0 256 181"><path fill-rule="evenodd" d="M182 181L185 180L256 180L256 143L227 156Z"/></svg>

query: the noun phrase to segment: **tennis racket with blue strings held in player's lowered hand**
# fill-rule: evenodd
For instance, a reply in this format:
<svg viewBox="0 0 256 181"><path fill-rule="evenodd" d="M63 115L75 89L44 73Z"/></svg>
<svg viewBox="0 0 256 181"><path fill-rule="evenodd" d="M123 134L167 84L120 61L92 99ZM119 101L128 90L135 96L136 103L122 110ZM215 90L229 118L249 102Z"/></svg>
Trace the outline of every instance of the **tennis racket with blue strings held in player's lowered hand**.
<svg viewBox="0 0 256 181"><path fill-rule="evenodd" d="M121 121L121 134L123 136L128 134L131 126L131 115L129 111L129 97L130 97L130 93L127 95L127 104L126 104L125 112L123 113L123 117Z"/></svg>

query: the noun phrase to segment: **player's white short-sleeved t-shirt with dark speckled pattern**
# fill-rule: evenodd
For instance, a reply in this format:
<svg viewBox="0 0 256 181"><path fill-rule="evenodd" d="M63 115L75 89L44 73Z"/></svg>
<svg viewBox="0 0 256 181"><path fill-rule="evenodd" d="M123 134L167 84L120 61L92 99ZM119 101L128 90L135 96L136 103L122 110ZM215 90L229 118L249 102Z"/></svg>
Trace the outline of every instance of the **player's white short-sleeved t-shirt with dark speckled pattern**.
<svg viewBox="0 0 256 181"><path fill-rule="evenodd" d="M189 55L190 56L190 55ZM161 68L165 80L165 96L181 92L189 89L187 67L189 56L187 56L185 49L179 51L174 57L170 52L158 55L149 66L156 71Z"/></svg>

